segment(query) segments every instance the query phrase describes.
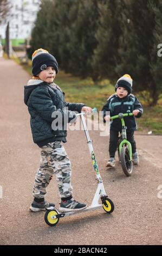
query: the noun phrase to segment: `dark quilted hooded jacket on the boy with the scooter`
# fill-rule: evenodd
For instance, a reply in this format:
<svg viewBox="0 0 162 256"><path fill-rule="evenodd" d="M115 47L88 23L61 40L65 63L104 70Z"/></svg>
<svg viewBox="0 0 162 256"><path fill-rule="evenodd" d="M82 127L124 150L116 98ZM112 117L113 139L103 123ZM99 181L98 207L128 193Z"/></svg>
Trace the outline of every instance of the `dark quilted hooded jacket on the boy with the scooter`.
<svg viewBox="0 0 162 256"><path fill-rule="evenodd" d="M56 84L41 80L29 80L28 86L24 86L24 102L30 113L33 141L39 147L54 141L66 142L67 123L75 121L74 111L80 113L85 106L82 103L65 102L64 93ZM58 126L56 120L60 120L60 116L61 126Z"/></svg>

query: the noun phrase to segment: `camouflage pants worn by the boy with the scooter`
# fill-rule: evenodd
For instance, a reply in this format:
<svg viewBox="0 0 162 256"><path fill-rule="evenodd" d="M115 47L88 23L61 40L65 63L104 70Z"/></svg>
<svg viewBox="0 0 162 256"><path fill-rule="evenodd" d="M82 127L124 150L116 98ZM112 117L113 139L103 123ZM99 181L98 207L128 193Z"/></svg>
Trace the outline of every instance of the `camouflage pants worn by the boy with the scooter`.
<svg viewBox="0 0 162 256"><path fill-rule="evenodd" d="M61 141L50 142L41 148L40 167L35 176L33 196L44 198L46 188L53 176L56 175L60 197L72 195L71 164Z"/></svg>

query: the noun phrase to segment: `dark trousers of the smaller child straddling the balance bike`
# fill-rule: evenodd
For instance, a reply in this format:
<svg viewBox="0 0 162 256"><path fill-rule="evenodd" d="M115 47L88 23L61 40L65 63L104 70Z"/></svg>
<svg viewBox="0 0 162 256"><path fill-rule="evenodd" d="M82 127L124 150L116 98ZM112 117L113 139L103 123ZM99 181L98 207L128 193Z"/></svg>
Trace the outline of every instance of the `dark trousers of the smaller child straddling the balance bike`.
<svg viewBox="0 0 162 256"><path fill-rule="evenodd" d="M115 157L115 151L118 146L118 138L119 138L119 132L110 130L110 134L109 134L109 156L110 157ZM134 141L134 131L127 132L127 141L129 141L132 145L132 153L135 153L136 143Z"/></svg>

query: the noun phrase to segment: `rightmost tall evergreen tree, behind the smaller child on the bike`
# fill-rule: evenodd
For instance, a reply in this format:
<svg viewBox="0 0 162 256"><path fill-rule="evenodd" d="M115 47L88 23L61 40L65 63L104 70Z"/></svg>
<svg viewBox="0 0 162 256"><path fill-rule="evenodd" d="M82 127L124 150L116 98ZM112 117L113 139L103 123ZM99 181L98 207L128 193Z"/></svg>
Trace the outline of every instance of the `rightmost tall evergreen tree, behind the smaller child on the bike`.
<svg viewBox="0 0 162 256"><path fill-rule="evenodd" d="M116 74L128 73L132 76L133 92L140 92L149 105L157 103L157 83L159 75L157 62L157 36L160 35L161 20L157 25L156 11L159 0L131 0L129 23L122 27L118 54L120 62L116 65ZM157 29L155 29L157 27ZM157 74L157 77L154 76Z"/></svg>

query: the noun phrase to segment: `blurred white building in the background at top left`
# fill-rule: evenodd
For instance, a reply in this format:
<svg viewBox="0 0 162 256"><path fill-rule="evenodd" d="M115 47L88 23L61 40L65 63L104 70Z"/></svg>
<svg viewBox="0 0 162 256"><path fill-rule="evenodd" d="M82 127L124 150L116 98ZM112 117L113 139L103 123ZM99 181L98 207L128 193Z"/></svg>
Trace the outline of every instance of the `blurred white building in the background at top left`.
<svg viewBox="0 0 162 256"><path fill-rule="evenodd" d="M10 39L27 39L34 27L41 0L9 0L7 22L0 26L0 37L5 38L5 29L10 22Z"/></svg>

